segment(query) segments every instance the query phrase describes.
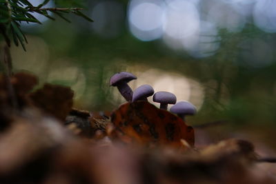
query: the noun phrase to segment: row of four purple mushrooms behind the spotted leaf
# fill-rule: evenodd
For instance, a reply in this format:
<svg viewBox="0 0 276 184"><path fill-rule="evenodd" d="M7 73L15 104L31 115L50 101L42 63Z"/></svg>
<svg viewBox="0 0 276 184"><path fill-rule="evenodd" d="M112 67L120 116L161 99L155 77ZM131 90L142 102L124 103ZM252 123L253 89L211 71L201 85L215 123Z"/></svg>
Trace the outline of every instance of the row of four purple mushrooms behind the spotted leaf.
<svg viewBox="0 0 276 184"><path fill-rule="evenodd" d="M150 85L141 85L134 92L128 85L129 81L137 79L134 74L129 72L119 72L110 78L110 85L117 86L119 92L126 99L126 101L148 101L148 97L153 95L152 100L160 103L160 109L167 110L168 104L175 104L177 97L171 92L156 92ZM179 101L170 108L170 112L177 114L181 119L185 119L186 115L193 115L196 113L196 108L188 101Z"/></svg>

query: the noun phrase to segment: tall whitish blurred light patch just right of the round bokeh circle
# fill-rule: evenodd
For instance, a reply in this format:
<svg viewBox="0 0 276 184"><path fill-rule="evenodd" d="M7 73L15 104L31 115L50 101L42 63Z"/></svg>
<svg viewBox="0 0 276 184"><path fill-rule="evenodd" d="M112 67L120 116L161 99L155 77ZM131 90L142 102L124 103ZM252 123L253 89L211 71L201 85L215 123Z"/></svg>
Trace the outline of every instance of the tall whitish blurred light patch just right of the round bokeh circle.
<svg viewBox="0 0 276 184"><path fill-rule="evenodd" d="M194 3L169 1L164 23L164 43L175 50L195 48L199 25L199 12Z"/></svg>

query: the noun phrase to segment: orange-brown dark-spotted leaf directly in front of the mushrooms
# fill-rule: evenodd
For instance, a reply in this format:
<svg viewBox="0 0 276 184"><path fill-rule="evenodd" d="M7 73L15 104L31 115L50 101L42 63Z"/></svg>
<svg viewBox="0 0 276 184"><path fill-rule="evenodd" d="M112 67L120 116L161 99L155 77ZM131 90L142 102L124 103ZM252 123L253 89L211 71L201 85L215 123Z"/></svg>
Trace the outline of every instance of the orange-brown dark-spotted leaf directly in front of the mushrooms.
<svg viewBox="0 0 276 184"><path fill-rule="evenodd" d="M125 142L181 147L181 139L184 139L189 145L194 145L193 127L146 101L124 103L112 113L111 121L119 139Z"/></svg>

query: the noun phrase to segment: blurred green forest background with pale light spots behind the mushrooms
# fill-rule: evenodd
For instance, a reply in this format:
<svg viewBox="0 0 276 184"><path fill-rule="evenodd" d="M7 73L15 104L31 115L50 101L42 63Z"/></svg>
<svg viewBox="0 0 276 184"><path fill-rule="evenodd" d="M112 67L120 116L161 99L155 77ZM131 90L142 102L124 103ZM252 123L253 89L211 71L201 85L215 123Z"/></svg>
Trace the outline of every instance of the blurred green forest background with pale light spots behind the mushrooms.
<svg viewBox="0 0 276 184"><path fill-rule="evenodd" d="M219 121L228 128L213 130L218 138L254 129L274 143L268 135L276 128L276 1L89 0L81 5L94 23L68 16L72 23L37 17L43 25L24 24L27 52L12 47L14 69L37 74L41 84L70 86L75 108L90 111L124 103L109 79L115 72L132 72L138 78L129 83L133 90L149 84L155 92L172 92L177 101L195 104L198 114L188 117L189 124Z"/></svg>

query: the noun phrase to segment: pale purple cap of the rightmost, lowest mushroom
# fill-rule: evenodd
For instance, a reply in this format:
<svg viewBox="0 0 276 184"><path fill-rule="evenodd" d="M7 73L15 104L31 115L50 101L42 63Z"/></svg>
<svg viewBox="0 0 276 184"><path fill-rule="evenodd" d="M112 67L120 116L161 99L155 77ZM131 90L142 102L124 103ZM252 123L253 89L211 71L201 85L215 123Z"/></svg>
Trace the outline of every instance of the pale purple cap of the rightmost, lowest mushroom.
<svg viewBox="0 0 276 184"><path fill-rule="evenodd" d="M197 112L197 108L188 101L179 101L170 108L170 112L175 114L193 115Z"/></svg>

